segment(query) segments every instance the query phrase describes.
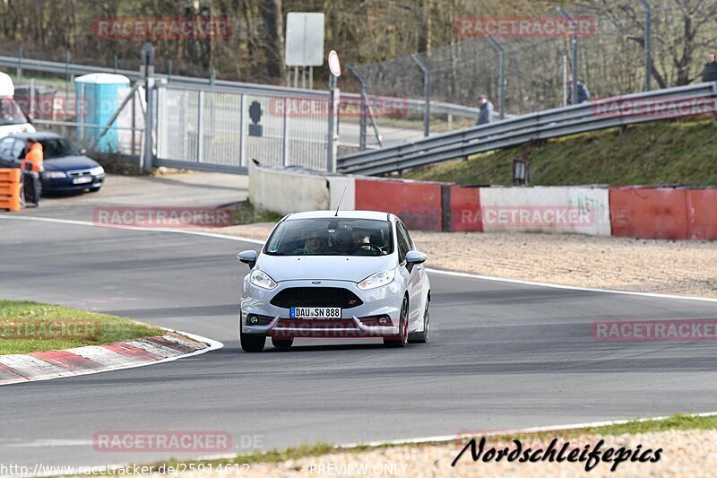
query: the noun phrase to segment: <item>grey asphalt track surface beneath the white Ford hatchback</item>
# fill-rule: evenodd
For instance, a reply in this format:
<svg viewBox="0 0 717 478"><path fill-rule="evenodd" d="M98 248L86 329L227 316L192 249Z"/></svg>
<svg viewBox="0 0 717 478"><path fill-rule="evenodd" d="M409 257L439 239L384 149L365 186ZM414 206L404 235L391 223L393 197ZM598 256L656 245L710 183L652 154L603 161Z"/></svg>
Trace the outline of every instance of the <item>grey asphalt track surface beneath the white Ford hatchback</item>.
<svg viewBox="0 0 717 478"><path fill-rule="evenodd" d="M38 212L39 215L39 212ZM240 352L235 255L255 243L0 219L0 297L225 344L138 369L0 387L0 463L106 465L100 430L226 430L238 451L717 410L714 343L598 342L599 318L713 318L714 302L430 274L428 344L305 340ZM430 265L430 264L428 264ZM669 271L666 271L669 274ZM181 456L181 455L180 455Z"/></svg>

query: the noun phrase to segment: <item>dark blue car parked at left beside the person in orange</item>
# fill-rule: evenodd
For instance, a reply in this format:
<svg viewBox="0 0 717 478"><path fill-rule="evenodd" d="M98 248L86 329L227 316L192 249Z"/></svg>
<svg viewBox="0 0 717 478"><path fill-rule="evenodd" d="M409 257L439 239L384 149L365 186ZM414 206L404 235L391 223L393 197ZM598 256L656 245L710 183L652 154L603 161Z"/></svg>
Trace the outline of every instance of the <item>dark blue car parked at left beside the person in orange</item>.
<svg viewBox="0 0 717 478"><path fill-rule="evenodd" d="M20 168L25 140L34 138L42 144L45 170L43 192L99 191L105 181L105 169L77 151L72 143L55 133L18 133L0 139L0 168Z"/></svg>

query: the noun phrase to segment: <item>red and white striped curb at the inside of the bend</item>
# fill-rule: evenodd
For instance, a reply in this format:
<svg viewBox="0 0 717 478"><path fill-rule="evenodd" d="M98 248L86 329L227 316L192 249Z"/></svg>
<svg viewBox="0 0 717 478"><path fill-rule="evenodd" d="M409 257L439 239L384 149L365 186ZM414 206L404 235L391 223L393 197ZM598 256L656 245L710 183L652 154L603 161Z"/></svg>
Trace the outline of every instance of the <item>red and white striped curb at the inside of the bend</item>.
<svg viewBox="0 0 717 478"><path fill-rule="evenodd" d="M181 335L180 335L181 334ZM63 351L0 355L0 386L132 369L199 355L224 344L199 335L165 335L88 345Z"/></svg>

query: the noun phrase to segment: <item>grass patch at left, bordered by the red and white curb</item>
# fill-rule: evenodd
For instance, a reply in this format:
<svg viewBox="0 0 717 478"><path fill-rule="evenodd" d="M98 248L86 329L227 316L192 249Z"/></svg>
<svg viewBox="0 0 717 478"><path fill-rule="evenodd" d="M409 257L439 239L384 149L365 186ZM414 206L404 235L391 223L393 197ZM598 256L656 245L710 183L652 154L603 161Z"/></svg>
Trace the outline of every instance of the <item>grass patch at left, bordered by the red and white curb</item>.
<svg viewBox="0 0 717 478"><path fill-rule="evenodd" d="M164 333L130 318L0 299L0 355L64 350Z"/></svg>

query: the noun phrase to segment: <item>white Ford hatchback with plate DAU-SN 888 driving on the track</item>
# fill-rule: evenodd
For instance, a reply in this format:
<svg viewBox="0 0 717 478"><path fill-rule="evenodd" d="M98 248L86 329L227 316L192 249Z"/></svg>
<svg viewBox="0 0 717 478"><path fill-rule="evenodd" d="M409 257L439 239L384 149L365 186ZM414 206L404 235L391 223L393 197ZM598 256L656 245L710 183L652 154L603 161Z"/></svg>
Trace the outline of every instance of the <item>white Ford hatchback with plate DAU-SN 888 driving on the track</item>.
<svg viewBox="0 0 717 478"><path fill-rule="evenodd" d="M294 213L249 265L239 316L241 347L261 352L266 338L288 349L295 338L383 338L388 347L428 342L428 256L393 214Z"/></svg>

